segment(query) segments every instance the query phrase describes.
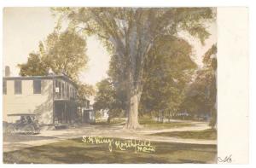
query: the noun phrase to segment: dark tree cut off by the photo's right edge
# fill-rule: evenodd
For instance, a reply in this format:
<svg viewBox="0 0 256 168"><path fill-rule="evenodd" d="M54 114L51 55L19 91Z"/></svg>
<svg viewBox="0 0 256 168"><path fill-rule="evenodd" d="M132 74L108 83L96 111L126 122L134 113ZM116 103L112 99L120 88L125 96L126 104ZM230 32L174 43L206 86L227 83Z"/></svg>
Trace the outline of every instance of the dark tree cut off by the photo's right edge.
<svg viewBox="0 0 256 168"><path fill-rule="evenodd" d="M209 115L210 125L217 120L217 47L213 44L203 55L203 67L196 72L195 81L189 86L183 109L196 115Z"/></svg>

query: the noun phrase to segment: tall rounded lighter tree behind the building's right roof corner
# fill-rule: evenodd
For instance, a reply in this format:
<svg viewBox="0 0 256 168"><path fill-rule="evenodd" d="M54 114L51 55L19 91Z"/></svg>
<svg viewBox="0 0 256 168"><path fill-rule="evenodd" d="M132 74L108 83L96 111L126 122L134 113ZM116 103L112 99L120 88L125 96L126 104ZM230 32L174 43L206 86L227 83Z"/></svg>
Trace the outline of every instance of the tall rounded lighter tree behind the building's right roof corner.
<svg viewBox="0 0 256 168"><path fill-rule="evenodd" d="M85 40L76 32L53 32L39 48L44 62L53 72L63 72L75 80L88 62Z"/></svg>

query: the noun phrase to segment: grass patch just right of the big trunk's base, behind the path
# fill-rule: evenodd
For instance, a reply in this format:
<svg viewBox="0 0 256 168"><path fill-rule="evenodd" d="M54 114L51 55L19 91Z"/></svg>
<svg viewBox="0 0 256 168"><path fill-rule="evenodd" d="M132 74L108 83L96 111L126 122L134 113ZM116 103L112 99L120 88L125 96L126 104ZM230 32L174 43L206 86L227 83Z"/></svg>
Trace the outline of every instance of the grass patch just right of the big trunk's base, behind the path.
<svg viewBox="0 0 256 168"><path fill-rule="evenodd" d="M168 128L177 128L177 127L192 125L190 123L186 123L186 121L160 123L160 122L154 121L153 119L139 119L139 124L143 125L145 128L150 128L150 129L168 129Z"/></svg>

